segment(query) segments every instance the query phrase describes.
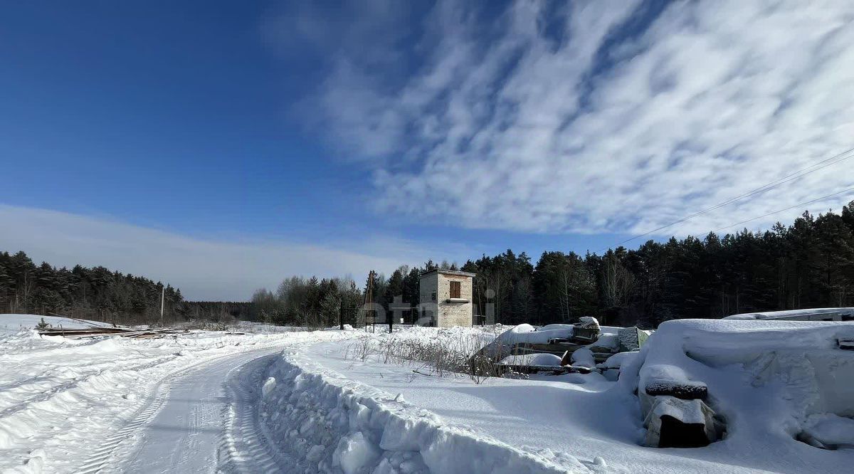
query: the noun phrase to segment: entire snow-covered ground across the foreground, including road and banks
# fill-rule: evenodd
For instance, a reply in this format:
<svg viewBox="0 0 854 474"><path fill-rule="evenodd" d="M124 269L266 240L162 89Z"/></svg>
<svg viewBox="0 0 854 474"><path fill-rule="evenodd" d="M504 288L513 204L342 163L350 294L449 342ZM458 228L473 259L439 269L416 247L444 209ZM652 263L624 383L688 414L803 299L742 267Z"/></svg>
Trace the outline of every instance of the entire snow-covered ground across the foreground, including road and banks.
<svg viewBox="0 0 854 474"><path fill-rule="evenodd" d="M671 321L624 358L611 382L595 372L454 376L364 350L393 339L477 350L508 329L500 327L74 341L21 329L38 316L3 318L0 471L794 473L854 465L854 352L839 348L854 337L850 323ZM663 375L708 385L708 402L727 422L722 441L642 445L635 388Z"/></svg>

